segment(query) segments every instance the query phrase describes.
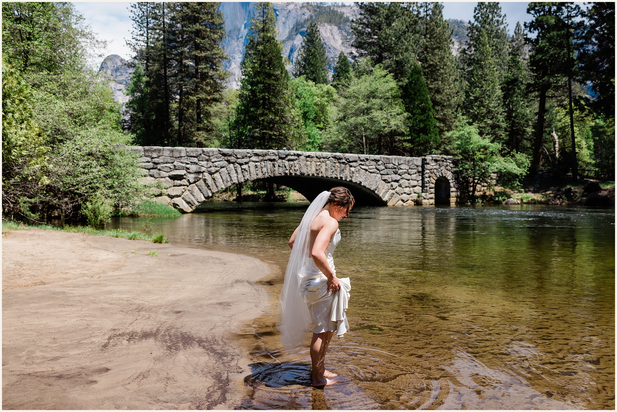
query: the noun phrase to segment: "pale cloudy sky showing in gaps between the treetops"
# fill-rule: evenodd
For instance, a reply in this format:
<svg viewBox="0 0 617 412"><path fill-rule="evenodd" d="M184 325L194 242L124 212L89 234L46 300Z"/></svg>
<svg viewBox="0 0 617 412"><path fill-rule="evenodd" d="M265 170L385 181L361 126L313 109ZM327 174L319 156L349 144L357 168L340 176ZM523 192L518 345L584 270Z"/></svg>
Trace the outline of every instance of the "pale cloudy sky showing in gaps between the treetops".
<svg viewBox="0 0 617 412"><path fill-rule="evenodd" d="M73 2L86 19L86 24L92 27L100 39L107 40L106 50L96 51L104 56L118 54L124 59L130 58L131 51L126 46L125 39L131 38L130 2ZM444 2L444 18L458 20L472 20L473 8L476 2ZM516 27L516 22L529 20L526 13L528 2L501 2L503 13L506 15L510 33ZM98 65L101 58L94 59Z"/></svg>

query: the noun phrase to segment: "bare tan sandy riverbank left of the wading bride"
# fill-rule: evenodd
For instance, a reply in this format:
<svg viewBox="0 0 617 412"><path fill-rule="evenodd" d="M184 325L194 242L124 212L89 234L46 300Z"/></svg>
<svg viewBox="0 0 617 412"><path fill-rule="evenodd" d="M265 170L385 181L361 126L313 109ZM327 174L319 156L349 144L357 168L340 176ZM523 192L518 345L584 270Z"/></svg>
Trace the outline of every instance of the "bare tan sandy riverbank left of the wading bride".
<svg viewBox="0 0 617 412"><path fill-rule="evenodd" d="M173 244L7 232L2 408L238 405L250 360L234 332L263 314L268 296L255 281L269 273L265 263Z"/></svg>

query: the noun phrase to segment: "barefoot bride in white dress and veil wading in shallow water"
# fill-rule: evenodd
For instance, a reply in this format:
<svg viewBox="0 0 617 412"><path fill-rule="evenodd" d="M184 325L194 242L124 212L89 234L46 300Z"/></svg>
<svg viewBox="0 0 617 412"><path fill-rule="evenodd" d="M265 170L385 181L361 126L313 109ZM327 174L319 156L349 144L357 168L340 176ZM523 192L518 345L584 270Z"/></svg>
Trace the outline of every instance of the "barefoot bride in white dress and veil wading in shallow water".
<svg viewBox="0 0 617 412"><path fill-rule="evenodd" d="M349 278L339 279L332 253L341 241L339 220L348 217L354 196L345 187L321 192L310 204L291 239L291 255L278 301L276 327L289 352L304 345L312 331L310 357L313 386L336 383L337 376L324 367L330 339L347 332Z"/></svg>

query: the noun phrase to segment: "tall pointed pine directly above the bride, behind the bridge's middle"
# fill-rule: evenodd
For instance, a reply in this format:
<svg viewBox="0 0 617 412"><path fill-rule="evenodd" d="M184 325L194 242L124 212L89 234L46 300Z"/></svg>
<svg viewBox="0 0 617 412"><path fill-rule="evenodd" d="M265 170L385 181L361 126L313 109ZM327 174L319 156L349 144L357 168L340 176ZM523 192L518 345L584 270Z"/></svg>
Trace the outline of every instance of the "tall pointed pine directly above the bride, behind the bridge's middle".
<svg viewBox="0 0 617 412"><path fill-rule="evenodd" d="M276 39L276 17L269 2L255 5L251 35L242 60L236 125L247 149L290 146L294 118L289 73Z"/></svg>

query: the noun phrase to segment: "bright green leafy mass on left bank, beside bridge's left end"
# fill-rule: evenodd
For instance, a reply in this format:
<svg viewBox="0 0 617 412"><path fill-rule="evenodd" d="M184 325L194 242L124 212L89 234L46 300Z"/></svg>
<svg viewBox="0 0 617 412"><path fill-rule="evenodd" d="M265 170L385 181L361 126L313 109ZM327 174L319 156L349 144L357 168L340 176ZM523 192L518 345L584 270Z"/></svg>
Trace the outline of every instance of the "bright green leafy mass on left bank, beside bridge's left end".
<svg viewBox="0 0 617 412"><path fill-rule="evenodd" d="M65 3L5 2L2 15L2 45L10 51L4 58L18 64L15 76L6 73L12 86L3 78L3 116L5 110L19 112L6 127L20 125L32 139L17 169L9 173L9 163L2 165L3 179L10 178L3 185L4 213L38 220L41 213L60 210L63 218L79 218L84 202L97 192L114 207L131 205L144 195L144 187L137 182L135 155L122 149L131 139L122 133L109 84L88 68L86 47L96 39L81 26L83 17ZM42 147L43 136L49 149ZM7 138L19 137L7 130ZM27 167L32 162L41 167Z"/></svg>

